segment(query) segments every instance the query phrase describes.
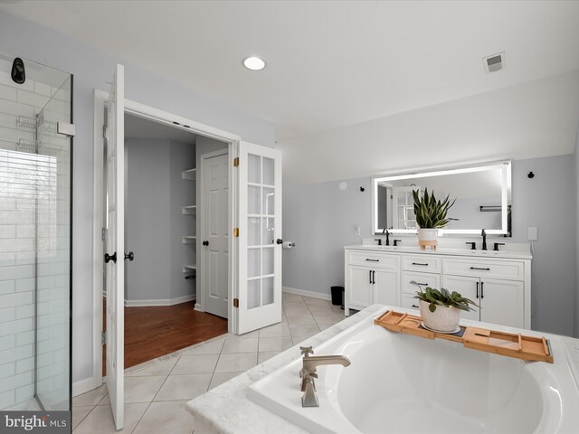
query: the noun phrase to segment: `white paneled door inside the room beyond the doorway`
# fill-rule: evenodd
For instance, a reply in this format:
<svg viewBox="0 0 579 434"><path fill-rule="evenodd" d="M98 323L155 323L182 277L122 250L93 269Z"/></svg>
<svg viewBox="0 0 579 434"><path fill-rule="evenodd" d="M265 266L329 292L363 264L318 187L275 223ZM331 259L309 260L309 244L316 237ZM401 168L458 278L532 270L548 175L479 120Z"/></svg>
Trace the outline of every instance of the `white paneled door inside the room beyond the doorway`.
<svg viewBox="0 0 579 434"><path fill-rule="evenodd" d="M229 155L202 156L205 312L227 318L229 260Z"/></svg>

